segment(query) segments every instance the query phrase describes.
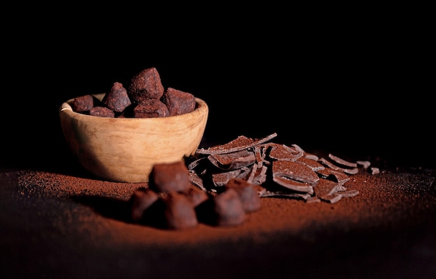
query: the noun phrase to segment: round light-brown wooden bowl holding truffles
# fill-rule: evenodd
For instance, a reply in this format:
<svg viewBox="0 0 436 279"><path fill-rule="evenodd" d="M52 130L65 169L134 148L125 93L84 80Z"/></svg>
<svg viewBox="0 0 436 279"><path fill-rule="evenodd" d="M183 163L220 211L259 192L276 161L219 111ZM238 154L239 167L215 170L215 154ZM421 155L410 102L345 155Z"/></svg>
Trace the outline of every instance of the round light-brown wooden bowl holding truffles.
<svg viewBox="0 0 436 279"><path fill-rule="evenodd" d="M95 94L102 100L104 93ZM79 163L104 180L148 182L157 163L191 156L201 142L208 105L196 98L187 114L157 118L108 118L74 112L67 100L59 108L65 140Z"/></svg>

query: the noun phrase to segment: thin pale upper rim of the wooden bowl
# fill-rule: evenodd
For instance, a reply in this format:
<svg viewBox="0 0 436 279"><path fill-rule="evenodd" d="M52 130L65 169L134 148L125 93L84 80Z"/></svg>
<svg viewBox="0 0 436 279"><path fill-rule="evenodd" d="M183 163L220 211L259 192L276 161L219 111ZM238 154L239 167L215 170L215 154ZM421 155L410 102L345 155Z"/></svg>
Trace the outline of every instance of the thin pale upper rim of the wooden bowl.
<svg viewBox="0 0 436 279"><path fill-rule="evenodd" d="M102 98L104 97L106 93L95 93L95 94L89 94L94 96L95 98L98 98L99 100L102 100ZM77 98L77 97L75 97ZM59 107L59 113L60 114L66 114L69 117L72 118L77 118L77 119L81 119L81 120L88 120L88 121L93 121L98 119L99 121L150 121L150 122L155 122L155 121L165 121L167 119L173 119L173 120L180 120L182 121L184 118L191 118L194 114L208 114L208 104L205 102L205 100L201 99L201 98L197 98L195 97L195 102L196 102L196 107L192 112L187 112L185 114L178 114L178 115L173 115L173 116L165 116L165 117L102 117L102 116L94 116L94 115L89 115L89 114L83 114L80 112L75 112L74 110L72 110L71 107L71 103L73 100L75 100L75 98L70 98L69 100L66 100L65 102L63 102L61 104L61 106Z"/></svg>

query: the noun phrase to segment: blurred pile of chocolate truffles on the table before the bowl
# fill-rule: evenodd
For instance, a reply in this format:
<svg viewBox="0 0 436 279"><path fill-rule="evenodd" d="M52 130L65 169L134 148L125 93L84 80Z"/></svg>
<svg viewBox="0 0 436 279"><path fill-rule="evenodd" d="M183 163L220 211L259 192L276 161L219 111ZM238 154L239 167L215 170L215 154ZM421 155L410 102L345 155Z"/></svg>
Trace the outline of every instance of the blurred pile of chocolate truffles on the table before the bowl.
<svg viewBox="0 0 436 279"><path fill-rule="evenodd" d="M185 162L153 166L148 188L130 197L132 222L165 229L188 229L199 223L235 226L260 209L260 197L245 179L231 179L217 195L192 185Z"/></svg>

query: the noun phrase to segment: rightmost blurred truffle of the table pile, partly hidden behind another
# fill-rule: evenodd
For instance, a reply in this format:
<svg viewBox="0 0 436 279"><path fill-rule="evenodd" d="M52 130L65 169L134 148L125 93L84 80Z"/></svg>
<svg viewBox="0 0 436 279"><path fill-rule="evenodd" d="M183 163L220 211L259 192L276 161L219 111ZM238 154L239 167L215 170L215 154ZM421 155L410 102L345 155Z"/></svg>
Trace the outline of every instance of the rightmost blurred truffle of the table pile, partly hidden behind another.
<svg viewBox="0 0 436 279"><path fill-rule="evenodd" d="M260 209L260 197L254 185L244 179L231 179L226 189L234 189L240 195L245 212L254 212Z"/></svg>

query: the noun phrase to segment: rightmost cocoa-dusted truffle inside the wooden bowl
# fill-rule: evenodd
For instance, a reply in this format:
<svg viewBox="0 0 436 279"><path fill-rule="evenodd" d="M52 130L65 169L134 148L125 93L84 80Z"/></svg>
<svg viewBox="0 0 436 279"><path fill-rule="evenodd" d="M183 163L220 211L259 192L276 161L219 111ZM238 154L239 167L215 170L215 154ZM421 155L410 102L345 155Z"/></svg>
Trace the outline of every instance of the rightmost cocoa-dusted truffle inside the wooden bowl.
<svg viewBox="0 0 436 279"><path fill-rule="evenodd" d="M192 93L180 91L171 87L164 91L160 100L166 105L166 107L168 107L170 116L192 112L195 110L196 106L195 97Z"/></svg>

